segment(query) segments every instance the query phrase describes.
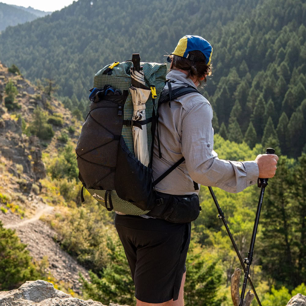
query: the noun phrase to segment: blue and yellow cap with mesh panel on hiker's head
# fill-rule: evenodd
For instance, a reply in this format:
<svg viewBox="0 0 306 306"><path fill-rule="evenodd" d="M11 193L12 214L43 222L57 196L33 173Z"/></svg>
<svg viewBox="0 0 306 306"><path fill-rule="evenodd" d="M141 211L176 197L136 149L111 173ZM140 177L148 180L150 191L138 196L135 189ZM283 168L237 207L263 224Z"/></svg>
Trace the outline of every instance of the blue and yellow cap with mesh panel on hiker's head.
<svg viewBox="0 0 306 306"><path fill-rule="evenodd" d="M197 58L193 55L189 55L189 52L194 50L199 50L204 54L207 65L211 63L211 44L201 36L185 35L179 40L175 50L170 55L174 54L183 58L188 58L191 61L195 62L203 61L203 59ZM167 61L171 62L171 58L168 57Z"/></svg>

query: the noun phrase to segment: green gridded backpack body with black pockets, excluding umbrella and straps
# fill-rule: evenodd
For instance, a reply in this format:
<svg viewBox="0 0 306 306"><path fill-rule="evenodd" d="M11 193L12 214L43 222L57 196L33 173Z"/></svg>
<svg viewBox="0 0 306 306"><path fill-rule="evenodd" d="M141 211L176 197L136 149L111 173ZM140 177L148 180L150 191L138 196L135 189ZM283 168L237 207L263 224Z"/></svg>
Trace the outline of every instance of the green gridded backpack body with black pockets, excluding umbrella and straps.
<svg viewBox="0 0 306 306"><path fill-rule="evenodd" d="M133 103L131 67L133 63L115 62L99 70L94 88L110 85L121 95L105 95L90 104L76 146L79 179L83 188L107 210L129 215L146 214L156 204L152 179L152 158L157 102L166 82L166 64L140 63L145 85L151 94L145 103L147 147L150 163L146 167L134 155L132 135Z"/></svg>

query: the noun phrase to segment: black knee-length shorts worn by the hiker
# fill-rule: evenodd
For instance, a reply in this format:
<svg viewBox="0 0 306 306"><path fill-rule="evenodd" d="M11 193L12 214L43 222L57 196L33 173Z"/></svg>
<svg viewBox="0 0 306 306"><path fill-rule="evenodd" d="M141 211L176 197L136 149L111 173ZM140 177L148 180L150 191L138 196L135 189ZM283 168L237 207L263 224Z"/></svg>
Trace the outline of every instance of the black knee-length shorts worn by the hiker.
<svg viewBox="0 0 306 306"><path fill-rule="evenodd" d="M152 304L177 300L191 223L116 214L115 226L135 283L135 297Z"/></svg>

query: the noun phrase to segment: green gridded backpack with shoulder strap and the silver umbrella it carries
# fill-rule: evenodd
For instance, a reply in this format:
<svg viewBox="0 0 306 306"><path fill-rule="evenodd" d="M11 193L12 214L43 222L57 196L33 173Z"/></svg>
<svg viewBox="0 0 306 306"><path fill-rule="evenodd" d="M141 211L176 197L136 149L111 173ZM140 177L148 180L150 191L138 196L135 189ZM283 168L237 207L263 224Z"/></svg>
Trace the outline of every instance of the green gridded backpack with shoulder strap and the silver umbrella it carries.
<svg viewBox="0 0 306 306"><path fill-rule="evenodd" d="M143 215L163 204L155 185L185 159L182 157L159 178L153 178L158 106L165 102L170 106L171 100L181 95L199 93L186 83L172 90L175 81L166 80L166 70L166 64L140 63L139 54L133 54L132 61L114 62L95 74L90 111L76 146L82 202L85 187L109 211ZM166 82L169 93L161 95ZM142 146L135 143L136 133L141 133ZM157 140L161 158L159 137ZM139 153L140 147L146 154ZM198 189L195 182L194 187Z"/></svg>

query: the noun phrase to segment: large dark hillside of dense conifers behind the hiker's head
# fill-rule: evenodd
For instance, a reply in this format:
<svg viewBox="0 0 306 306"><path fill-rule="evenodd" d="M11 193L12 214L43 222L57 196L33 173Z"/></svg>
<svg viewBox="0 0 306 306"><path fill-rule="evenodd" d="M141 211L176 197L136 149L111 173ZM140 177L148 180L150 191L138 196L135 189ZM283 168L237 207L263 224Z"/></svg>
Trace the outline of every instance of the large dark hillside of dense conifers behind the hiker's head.
<svg viewBox="0 0 306 306"><path fill-rule="evenodd" d="M135 52L163 62L183 35L202 35L214 49L204 94L215 131L251 147L272 137L282 154L297 157L306 150L305 20L305 0L79 0L4 31L0 59L31 80L55 80L58 94L73 98L66 105L85 115L100 68Z"/></svg>

